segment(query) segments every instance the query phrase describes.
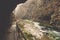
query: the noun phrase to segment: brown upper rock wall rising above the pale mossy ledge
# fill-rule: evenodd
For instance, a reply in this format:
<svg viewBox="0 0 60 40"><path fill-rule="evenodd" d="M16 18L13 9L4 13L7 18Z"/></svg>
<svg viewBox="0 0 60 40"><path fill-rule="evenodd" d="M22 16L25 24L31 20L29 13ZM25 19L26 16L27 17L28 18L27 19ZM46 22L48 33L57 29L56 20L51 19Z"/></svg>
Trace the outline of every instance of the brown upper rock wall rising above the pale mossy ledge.
<svg viewBox="0 0 60 40"><path fill-rule="evenodd" d="M17 5L14 14L18 19L38 21L44 26L60 28L60 0L27 0Z"/></svg>

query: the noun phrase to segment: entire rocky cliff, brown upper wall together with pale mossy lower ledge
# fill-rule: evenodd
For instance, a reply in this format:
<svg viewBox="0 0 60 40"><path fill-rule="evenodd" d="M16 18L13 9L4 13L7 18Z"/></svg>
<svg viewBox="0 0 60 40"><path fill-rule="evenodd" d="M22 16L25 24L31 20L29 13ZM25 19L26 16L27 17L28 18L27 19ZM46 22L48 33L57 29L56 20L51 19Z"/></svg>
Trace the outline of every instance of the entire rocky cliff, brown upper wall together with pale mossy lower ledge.
<svg viewBox="0 0 60 40"><path fill-rule="evenodd" d="M13 13L18 20L17 39L60 40L60 0L27 0Z"/></svg>

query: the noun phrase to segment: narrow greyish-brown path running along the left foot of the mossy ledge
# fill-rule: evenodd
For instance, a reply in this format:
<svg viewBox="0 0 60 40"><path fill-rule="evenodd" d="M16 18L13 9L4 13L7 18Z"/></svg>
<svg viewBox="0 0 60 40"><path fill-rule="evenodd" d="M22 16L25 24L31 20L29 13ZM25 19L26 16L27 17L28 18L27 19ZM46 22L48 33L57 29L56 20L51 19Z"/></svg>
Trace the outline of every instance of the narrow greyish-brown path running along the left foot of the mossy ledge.
<svg viewBox="0 0 60 40"><path fill-rule="evenodd" d="M17 40L16 22L12 24L11 28L7 32L7 35L8 40Z"/></svg>

